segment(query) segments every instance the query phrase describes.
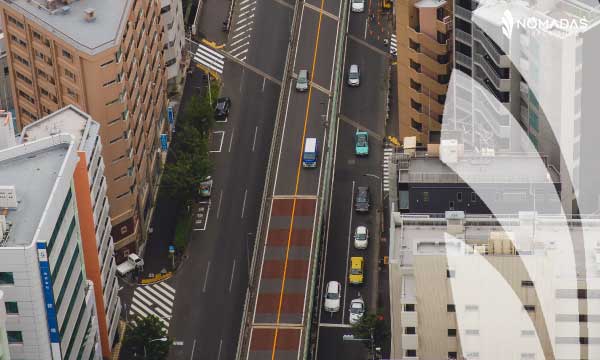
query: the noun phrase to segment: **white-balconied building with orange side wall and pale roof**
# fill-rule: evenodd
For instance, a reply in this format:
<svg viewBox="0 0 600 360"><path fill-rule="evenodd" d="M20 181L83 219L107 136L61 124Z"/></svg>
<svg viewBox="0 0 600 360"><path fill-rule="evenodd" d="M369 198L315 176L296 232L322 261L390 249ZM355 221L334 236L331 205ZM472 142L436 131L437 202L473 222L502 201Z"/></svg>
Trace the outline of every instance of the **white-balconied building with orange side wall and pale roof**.
<svg viewBox="0 0 600 360"><path fill-rule="evenodd" d="M109 357L121 313L112 241L100 125L69 105L23 128L28 143L58 133L70 134L79 162L73 174L79 229L87 279L94 283L102 353Z"/></svg>

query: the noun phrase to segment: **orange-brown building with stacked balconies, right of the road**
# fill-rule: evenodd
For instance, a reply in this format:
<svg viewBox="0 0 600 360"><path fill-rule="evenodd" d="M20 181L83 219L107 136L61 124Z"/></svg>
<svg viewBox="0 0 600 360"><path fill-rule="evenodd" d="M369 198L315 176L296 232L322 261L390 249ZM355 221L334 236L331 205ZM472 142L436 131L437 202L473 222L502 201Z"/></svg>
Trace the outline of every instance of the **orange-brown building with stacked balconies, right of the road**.
<svg viewBox="0 0 600 360"><path fill-rule="evenodd" d="M452 1L395 1L400 137L439 143L452 70Z"/></svg>

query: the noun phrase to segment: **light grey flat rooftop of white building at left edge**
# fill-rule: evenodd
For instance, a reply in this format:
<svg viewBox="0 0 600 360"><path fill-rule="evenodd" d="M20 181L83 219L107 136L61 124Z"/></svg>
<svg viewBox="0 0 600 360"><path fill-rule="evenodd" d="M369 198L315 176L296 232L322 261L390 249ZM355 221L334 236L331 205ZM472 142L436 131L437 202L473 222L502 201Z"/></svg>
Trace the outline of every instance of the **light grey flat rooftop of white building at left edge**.
<svg viewBox="0 0 600 360"><path fill-rule="evenodd" d="M72 145L62 134L0 151L0 185L15 186L18 201L16 209L0 210L11 224L0 246L32 243Z"/></svg>

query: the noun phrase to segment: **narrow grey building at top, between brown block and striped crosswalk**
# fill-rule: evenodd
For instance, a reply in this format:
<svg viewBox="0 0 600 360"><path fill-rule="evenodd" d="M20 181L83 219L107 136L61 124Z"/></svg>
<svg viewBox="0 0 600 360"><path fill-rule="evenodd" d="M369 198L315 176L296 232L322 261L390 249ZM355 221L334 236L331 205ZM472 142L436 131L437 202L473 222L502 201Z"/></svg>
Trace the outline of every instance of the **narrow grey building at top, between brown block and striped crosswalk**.
<svg viewBox="0 0 600 360"><path fill-rule="evenodd" d="M185 24L183 22L182 2L179 0L161 0L160 13L165 26L164 57L169 91L176 91L185 72Z"/></svg>

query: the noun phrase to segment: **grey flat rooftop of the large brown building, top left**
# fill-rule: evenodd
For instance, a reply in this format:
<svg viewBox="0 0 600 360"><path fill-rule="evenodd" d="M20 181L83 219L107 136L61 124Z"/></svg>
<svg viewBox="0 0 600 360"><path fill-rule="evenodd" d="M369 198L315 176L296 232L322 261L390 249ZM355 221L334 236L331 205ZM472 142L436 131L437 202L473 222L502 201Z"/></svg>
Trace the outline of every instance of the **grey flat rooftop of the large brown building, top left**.
<svg viewBox="0 0 600 360"><path fill-rule="evenodd" d="M70 4L67 5L67 3ZM23 14L73 47L90 55L119 43L127 23L131 0L11 0L5 6ZM85 12L93 9L95 19Z"/></svg>

